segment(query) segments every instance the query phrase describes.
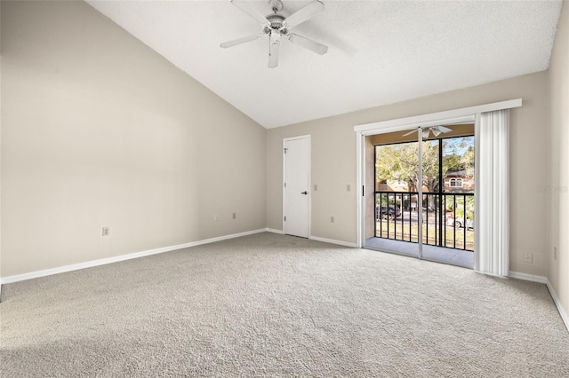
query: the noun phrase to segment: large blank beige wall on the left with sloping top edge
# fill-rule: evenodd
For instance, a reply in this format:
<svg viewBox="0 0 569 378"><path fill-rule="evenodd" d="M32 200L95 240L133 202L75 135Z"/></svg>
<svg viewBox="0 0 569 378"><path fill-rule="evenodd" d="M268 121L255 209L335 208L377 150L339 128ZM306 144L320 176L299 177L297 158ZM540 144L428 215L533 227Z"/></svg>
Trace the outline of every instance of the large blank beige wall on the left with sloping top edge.
<svg viewBox="0 0 569 378"><path fill-rule="evenodd" d="M265 227L266 130L88 4L2 47L2 277Z"/></svg>

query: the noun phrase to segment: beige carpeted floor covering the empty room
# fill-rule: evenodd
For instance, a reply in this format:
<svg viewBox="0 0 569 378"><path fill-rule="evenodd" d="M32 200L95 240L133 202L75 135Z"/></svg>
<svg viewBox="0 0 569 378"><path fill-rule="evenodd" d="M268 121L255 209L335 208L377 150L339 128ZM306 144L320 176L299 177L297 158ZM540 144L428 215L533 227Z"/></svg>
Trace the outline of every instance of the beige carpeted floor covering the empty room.
<svg viewBox="0 0 569 378"><path fill-rule="evenodd" d="M544 285L260 233L5 285L0 376L566 377Z"/></svg>

